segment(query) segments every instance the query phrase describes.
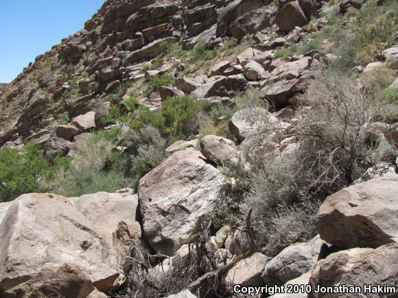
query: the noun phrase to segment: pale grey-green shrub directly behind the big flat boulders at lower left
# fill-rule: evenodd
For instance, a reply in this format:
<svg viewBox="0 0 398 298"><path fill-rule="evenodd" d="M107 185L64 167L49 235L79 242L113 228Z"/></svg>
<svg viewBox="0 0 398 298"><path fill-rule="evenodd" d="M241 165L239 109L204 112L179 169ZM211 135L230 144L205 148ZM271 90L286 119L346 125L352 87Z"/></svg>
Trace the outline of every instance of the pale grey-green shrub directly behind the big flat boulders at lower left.
<svg viewBox="0 0 398 298"><path fill-rule="evenodd" d="M82 136L75 142L69 166L58 169L51 179L44 179L40 189L65 197L80 197L100 191L113 193L128 186L124 177L126 159L114 150L115 134Z"/></svg>

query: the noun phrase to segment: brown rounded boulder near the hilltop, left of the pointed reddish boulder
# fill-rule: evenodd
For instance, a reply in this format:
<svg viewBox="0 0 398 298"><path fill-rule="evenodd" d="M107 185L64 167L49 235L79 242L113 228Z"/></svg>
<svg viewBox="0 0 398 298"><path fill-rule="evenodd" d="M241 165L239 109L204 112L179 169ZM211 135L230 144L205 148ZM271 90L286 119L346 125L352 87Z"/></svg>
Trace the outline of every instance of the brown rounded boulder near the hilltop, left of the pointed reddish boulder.
<svg viewBox="0 0 398 298"><path fill-rule="evenodd" d="M230 26L231 34L237 40L242 40L247 34L255 34L266 27L271 27L273 22L272 12L270 10L260 8L252 12L248 12L237 18Z"/></svg>

